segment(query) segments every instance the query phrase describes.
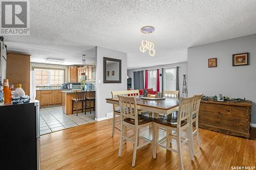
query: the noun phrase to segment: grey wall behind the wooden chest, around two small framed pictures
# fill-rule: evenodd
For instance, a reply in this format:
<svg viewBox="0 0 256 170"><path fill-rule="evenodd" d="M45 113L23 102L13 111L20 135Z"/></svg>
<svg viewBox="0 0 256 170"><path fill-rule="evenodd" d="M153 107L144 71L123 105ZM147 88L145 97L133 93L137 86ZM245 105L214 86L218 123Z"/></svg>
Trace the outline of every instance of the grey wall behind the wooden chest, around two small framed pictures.
<svg viewBox="0 0 256 170"><path fill-rule="evenodd" d="M232 54L250 53L249 65L232 66ZM256 34L188 48L188 94L251 99L256 124ZM218 67L208 68L208 58L217 58Z"/></svg>

